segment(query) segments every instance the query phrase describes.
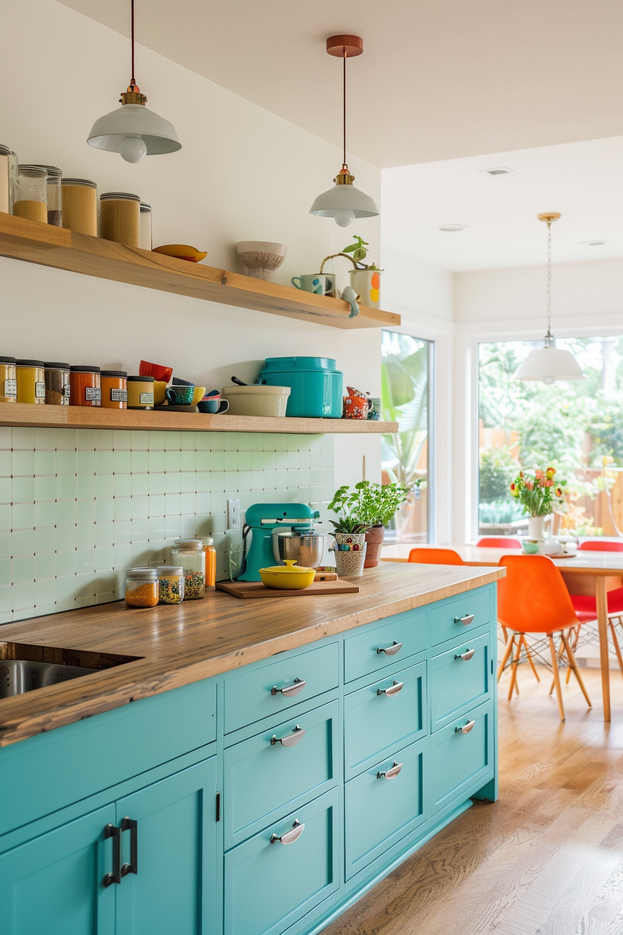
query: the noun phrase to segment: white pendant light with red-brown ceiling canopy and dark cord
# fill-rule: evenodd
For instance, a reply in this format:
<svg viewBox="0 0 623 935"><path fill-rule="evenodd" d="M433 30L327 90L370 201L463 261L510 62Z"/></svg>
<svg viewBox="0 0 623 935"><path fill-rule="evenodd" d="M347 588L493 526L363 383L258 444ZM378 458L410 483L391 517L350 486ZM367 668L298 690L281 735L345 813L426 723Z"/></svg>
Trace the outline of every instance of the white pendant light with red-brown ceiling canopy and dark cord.
<svg viewBox="0 0 623 935"><path fill-rule="evenodd" d="M321 218L333 218L340 227L347 227L355 218L374 218L378 214L374 199L353 185L355 177L350 175L347 166L347 57L361 55L363 39L361 36L330 36L327 39L327 51L330 55L339 56L344 62L344 161L333 179L333 188L319 194L309 213L318 214Z"/></svg>

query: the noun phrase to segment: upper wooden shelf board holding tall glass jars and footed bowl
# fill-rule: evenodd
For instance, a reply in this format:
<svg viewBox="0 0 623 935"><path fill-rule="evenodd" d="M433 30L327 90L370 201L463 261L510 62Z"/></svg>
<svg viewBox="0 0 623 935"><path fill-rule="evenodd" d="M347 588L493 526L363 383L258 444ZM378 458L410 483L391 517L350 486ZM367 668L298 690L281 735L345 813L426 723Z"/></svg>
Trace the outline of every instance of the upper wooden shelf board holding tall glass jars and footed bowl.
<svg viewBox="0 0 623 935"><path fill-rule="evenodd" d="M242 309L267 311L272 315L329 324L334 328L379 328L401 324L400 315L389 311L368 309L362 305L359 315L349 318L350 306L342 299L313 295L276 282L254 280L226 269L124 247L110 240L25 221L10 214L0 213L0 254L40 266L56 266L86 276L190 295L191 298Z"/></svg>

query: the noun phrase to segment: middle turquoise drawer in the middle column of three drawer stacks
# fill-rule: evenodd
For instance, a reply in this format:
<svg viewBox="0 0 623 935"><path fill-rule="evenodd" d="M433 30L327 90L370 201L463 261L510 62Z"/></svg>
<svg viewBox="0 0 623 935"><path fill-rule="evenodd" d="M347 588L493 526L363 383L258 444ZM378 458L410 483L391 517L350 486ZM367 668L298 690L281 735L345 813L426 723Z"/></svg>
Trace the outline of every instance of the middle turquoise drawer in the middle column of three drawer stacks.
<svg viewBox="0 0 623 935"><path fill-rule="evenodd" d="M394 684L396 683L396 684ZM399 685L402 688L396 694ZM344 699L345 777L389 756L426 731L426 663L390 671Z"/></svg>

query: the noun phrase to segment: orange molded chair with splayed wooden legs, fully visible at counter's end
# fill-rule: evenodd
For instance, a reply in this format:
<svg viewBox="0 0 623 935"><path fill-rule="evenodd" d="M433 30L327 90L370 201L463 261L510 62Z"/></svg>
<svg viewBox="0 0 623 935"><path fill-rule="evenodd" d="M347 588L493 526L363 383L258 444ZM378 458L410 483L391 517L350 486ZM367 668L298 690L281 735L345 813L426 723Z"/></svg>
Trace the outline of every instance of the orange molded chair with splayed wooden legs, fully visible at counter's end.
<svg viewBox="0 0 623 935"><path fill-rule="evenodd" d="M582 676L575 663L569 634L565 632L571 630L573 626L579 626L580 621L573 610L571 597L559 569L545 555L503 555L500 565L506 568L506 577L498 583L498 618L502 626L512 632L506 642L503 660L498 670L498 681L509 657L512 658L509 700L517 680L517 663L521 646L526 645L526 634L544 633L549 642L549 652L552 657L560 720L564 721L564 706L559 678L559 659L566 661L570 669L573 669L573 674L590 708L590 698L588 698ZM559 652L554 645L554 634L558 634L561 640Z"/></svg>

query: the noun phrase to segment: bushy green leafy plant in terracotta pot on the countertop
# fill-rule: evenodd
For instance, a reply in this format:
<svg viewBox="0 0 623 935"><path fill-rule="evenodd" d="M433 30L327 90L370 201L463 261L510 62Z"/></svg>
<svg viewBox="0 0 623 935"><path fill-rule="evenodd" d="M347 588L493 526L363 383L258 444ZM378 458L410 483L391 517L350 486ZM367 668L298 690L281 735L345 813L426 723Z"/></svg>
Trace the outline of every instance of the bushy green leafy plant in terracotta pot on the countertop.
<svg viewBox="0 0 623 935"><path fill-rule="evenodd" d="M329 509L347 512L353 522L365 525L367 549L364 568L376 568L378 553L385 539L385 527L404 502L409 491L400 483L360 481L353 490L340 487L333 495ZM333 524L335 525L335 524Z"/></svg>

